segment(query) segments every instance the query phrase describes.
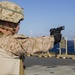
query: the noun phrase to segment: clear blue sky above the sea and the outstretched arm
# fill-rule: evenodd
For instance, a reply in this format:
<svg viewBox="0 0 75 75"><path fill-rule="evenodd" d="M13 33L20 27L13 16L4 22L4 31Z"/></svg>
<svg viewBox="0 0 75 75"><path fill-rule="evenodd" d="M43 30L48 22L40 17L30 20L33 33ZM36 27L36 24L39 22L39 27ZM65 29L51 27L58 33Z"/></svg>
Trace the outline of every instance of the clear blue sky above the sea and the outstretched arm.
<svg viewBox="0 0 75 75"><path fill-rule="evenodd" d="M24 8L19 34L49 36L49 30L65 26L63 36L75 36L75 0L8 0Z"/></svg>

